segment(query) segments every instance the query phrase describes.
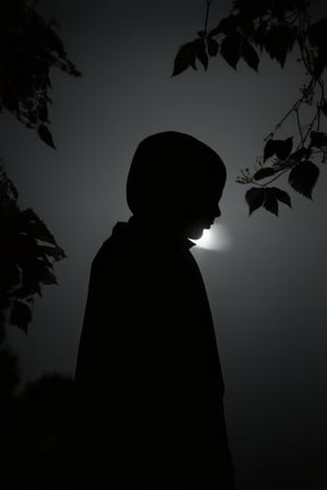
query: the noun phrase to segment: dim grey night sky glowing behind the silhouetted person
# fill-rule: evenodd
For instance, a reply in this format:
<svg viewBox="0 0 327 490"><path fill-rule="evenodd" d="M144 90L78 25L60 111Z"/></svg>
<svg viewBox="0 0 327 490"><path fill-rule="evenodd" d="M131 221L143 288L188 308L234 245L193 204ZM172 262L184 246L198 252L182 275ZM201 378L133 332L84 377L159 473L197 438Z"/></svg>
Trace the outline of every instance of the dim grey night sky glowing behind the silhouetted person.
<svg viewBox="0 0 327 490"><path fill-rule="evenodd" d="M230 5L214 3L213 27ZM316 8L327 15L324 2ZM235 183L298 98L305 77L296 56L284 70L264 57L258 74L242 62L235 72L219 58L207 73L199 68L171 78L178 47L203 28L205 1L44 0L39 11L58 20L83 78L52 72L58 150L13 117L0 121L1 156L21 208L33 207L68 255L56 267L59 286L44 287L35 303L28 335L9 328L23 381L44 372L73 376L90 261L114 223L130 217L124 188L133 152L152 133L189 133L228 170L218 229L226 246L192 250L215 319L237 470L249 481L255 471L257 489L283 481L323 490L327 168L320 166L314 201L290 191L293 209L281 206L278 218L265 210L249 217L247 187ZM279 138L294 133L293 122ZM280 187L288 189L286 182Z"/></svg>

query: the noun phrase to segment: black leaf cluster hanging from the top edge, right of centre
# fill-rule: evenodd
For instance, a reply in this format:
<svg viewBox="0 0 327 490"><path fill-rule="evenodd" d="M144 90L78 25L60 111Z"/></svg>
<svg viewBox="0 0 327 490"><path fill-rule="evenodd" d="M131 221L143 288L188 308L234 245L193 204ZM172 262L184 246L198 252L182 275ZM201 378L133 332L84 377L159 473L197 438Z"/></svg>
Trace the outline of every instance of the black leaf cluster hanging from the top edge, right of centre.
<svg viewBox="0 0 327 490"><path fill-rule="evenodd" d="M294 21L307 4L308 2L303 0L234 1L230 15L222 19L213 29L199 32L199 39L187 42L179 49L172 76L179 75L190 66L195 70L196 60L207 70L209 58L218 53L233 69L237 69L239 61L243 60L251 69L257 71L263 51L283 66L300 32ZM316 30L317 28L312 26L311 32L316 34ZM311 35L311 40L320 42L320 37Z"/></svg>

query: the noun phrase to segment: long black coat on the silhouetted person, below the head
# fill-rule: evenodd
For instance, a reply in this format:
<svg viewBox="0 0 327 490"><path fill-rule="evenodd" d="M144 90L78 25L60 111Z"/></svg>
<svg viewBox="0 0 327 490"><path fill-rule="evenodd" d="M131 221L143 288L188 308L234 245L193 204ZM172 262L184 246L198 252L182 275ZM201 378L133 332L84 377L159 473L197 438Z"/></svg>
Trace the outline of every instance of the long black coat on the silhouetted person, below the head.
<svg viewBox="0 0 327 490"><path fill-rule="evenodd" d="M80 468L93 483L234 488L214 326L190 246L132 218L93 261L75 375Z"/></svg>

